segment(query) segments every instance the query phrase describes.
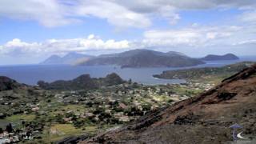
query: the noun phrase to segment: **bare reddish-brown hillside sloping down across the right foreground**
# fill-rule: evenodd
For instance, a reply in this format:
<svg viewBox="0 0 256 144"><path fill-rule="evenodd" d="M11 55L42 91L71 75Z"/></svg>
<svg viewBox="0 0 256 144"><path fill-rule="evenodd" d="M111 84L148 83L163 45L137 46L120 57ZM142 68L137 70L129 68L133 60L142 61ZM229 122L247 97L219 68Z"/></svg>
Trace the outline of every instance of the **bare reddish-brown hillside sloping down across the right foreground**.
<svg viewBox="0 0 256 144"><path fill-rule="evenodd" d="M256 65L196 97L80 143L232 143L230 126L235 123L247 141L255 142L255 118Z"/></svg>

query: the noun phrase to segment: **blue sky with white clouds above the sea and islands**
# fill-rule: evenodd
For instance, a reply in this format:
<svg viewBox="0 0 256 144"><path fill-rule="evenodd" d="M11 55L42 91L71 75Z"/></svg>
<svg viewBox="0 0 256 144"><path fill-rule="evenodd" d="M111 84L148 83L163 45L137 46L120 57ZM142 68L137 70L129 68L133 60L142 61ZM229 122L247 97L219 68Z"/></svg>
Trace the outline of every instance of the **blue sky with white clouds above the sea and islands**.
<svg viewBox="0 0 256 144"><path fill-rule="evenodd" d="M255 0L1 0L0 65L133 49L256 55Z"/></svg>

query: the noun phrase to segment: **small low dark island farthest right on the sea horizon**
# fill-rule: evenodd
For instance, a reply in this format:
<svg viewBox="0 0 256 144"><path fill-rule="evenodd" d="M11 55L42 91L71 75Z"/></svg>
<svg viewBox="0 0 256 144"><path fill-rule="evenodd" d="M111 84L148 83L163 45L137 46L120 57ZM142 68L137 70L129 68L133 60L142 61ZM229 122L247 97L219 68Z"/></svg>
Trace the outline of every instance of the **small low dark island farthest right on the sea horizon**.
<svg viewBox="0 0 256 144"><path fill-rule="evenodd" d="M214 55L209 54L204 58L200 58L202 61L222 61L222 60L237 60L238 56L234 54L225 54L225 55Z"/></svg>

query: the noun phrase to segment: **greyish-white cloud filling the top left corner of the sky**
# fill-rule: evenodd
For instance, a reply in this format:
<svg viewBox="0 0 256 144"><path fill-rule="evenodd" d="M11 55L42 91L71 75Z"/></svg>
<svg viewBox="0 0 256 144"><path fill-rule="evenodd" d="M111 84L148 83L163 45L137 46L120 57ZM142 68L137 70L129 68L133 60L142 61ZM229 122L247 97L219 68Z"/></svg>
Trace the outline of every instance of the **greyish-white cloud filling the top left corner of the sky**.
<svg viewBox="0 0 256 144"><path fill-rule="evenodd" d="M21 20L34 20L43 26L62 26L78 19L70 18L70 11L57 0L2 0L0 16Z"/></svg>

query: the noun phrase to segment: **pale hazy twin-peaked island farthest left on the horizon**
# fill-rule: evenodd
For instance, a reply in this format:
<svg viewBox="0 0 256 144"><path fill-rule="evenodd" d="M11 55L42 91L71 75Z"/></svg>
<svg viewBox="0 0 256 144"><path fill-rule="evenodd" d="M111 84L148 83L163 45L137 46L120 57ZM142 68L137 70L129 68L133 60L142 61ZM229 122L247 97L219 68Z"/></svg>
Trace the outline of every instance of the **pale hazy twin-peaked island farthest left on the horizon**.
<svg viewBox="0 0 256 144"><path fill-rule="evenodd" d="M85 62L90 58L94 58L94 56L70 52L63 57L59 57L58 55L52 55L50 56L50 58L47 58L44 62L41 62L41 64L76 64L80 61Z"/></svg>

